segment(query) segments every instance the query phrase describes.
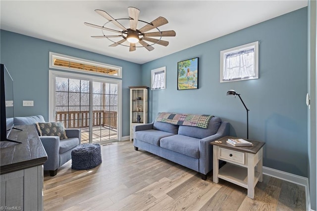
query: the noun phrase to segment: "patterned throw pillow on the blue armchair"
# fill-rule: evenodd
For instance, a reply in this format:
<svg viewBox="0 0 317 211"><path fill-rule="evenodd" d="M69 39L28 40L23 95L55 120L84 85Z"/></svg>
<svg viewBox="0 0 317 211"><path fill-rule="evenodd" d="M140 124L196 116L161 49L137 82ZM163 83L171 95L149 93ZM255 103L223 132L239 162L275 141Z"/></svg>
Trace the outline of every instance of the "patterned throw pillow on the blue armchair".
<svg viewBox="0 0 317 211"><path fill-rule="evenodd" d="M67 139L62 122L36 122L40 136L59 136L59 139Z"/></svg>

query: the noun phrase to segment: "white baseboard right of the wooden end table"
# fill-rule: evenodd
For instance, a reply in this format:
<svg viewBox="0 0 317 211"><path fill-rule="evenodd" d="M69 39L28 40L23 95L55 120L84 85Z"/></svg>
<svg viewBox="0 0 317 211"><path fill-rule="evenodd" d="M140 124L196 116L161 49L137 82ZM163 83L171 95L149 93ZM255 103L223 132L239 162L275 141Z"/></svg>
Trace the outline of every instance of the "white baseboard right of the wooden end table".
<svg viewBox="0 0 317 211"><path fill-rule="evenodd" d="M265 166L263 166L263 174L304 186L305 197L306 197L306 208L308 211L313 211L311 209L311 198L309 194L309 182L307 177L298 176L296 174L291 174L285 171L280 171L280 170L265 167Z"/></svg>

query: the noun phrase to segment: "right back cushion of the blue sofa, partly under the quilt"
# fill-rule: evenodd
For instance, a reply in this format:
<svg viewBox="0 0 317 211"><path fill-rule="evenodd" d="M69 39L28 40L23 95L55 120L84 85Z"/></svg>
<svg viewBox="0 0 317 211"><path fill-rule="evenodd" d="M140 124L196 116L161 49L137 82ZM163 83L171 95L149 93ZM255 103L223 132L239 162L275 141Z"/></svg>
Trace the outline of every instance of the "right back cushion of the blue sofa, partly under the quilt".
<svg viewBox="0 0 317 211"><path fill-rule="evenodd" d="M192 126L183 126L180 125L178 128L178 134L189 136L193 138L203 139L208 136L214 135L221 124L220 117L212 117L209 121L208 128L201 128L201 127L192 127Z"/></svg>

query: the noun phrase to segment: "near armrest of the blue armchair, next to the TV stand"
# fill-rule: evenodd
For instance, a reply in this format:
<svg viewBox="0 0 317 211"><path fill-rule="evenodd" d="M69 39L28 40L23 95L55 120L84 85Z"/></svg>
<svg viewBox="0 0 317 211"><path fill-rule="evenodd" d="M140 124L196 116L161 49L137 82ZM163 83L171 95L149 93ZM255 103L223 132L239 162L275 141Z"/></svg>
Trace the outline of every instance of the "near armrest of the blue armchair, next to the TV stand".
<svg viewBox="0 0 317 211"><path fill-rule="evenodd" d="M44 163L44 170L55 170L59 167L59 137L40 136L40 140L48 155L48 160Z"/></svg>

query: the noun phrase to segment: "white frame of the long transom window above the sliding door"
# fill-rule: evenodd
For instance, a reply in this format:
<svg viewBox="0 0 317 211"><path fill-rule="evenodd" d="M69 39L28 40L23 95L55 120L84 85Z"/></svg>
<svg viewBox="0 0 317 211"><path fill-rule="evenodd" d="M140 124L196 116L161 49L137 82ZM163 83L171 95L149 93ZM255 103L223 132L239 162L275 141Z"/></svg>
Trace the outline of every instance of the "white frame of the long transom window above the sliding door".
<svg viewBox="0 0 317 211"><path fill-rule="evenodd" d="M111 77L111 78L122 78L122 67L121 66L106 64L106 63L102 63L102 62L98 62L98 61L92 61L92 60L88 60L88 59L83 59L83 58L78 58L78 57L73 57L73 56L64 55L64 54L60 54L60 53L53 53L53 52L50 52L49 58L50 58L49 67L53 68L53 69L61 69L61 70L67 70L67 71L72 71L72 72L78 72L78 73L86 73L86 74L93 74L93 75L99 75L99 76L106 76L106 77ZM117 70L117 75L91 72L91 71L81 70L81 69L77 69L77 68L54 65L54 58L63 58L63 59L73 60L73 61L80 62L80 63L87 64L87 65L106 67L109 69Z"/></svg>

